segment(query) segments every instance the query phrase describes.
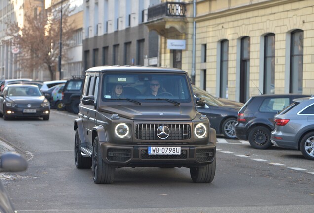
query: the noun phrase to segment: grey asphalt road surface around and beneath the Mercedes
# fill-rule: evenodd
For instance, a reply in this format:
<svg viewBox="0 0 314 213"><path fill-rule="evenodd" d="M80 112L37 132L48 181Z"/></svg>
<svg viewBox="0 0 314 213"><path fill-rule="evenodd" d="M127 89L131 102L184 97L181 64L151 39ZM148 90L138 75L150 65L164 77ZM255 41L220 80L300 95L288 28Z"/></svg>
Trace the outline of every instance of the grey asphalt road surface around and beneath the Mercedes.
<svg viewBox="0 0 314 213"><path fill-rule="evenodd" d="M18 212L313 212L313 161L220 137L210 184L193 183L187 168L119 168L113 184L94 184L91 169L74 165L76 117L53 111L49 121L0 118L0 137L29 162L25 172L0 174Z"/></svg>

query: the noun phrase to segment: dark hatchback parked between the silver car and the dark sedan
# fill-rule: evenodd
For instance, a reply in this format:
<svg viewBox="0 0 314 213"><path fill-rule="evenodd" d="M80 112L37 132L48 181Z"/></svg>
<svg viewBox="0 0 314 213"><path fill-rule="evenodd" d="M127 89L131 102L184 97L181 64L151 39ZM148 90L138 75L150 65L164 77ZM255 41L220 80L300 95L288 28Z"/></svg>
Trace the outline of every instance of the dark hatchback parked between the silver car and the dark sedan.
<svg viewBox="0 0 314 213"><path fill-rule="evenodd" d="M272 145L274 115L289 106L293 99L307 96L309 95L272 94L251 97L238 113L236 137L248 140L253 148L267 149Z"/></svg>

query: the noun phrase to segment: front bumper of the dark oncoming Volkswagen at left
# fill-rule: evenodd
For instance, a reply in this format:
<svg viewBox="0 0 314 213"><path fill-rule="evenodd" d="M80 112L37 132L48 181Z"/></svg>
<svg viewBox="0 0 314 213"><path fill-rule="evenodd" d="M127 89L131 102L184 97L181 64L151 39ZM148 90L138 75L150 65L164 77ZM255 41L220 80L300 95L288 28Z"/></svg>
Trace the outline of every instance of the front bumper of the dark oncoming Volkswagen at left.
<svg viewBox="0 0 314 213"><path fill-rule="evenodd" d="M36 110L36 112L32 112L32 113L23 112L24 109L29 109L29 108L6 107L4 113L6 117L42 117L42 116L48 116L50 114L50 108L48 106L40 107L40 108L32 108Z"/></svg>

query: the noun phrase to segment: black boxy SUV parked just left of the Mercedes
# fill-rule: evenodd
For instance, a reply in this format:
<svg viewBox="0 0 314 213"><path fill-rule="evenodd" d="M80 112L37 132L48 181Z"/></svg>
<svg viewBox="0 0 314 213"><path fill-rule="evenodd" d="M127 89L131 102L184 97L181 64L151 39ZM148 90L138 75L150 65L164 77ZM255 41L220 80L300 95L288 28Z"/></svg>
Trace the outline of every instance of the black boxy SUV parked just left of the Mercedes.
<svg viewBox="0 0 314 213"><path fill-rule="evenodd" d="M83 89L84 76L72 76L62 90L62 103L68 112L79 114L79 102Z"/></svg>

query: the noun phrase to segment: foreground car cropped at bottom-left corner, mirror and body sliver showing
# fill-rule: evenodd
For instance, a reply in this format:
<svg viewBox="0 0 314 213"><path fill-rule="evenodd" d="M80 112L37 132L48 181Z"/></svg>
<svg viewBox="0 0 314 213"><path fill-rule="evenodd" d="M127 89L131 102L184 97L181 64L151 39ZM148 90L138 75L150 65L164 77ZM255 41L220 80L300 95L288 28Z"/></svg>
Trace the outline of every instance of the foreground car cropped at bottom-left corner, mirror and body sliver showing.
<svg viewBox="0 0 314 213"><path fill-rule="evenodd" d="M0 172L22 172L27 169L25 158L15 152L6 152L0 157ZM0 212L16 213L4 186L0 181Z"/></svg>

